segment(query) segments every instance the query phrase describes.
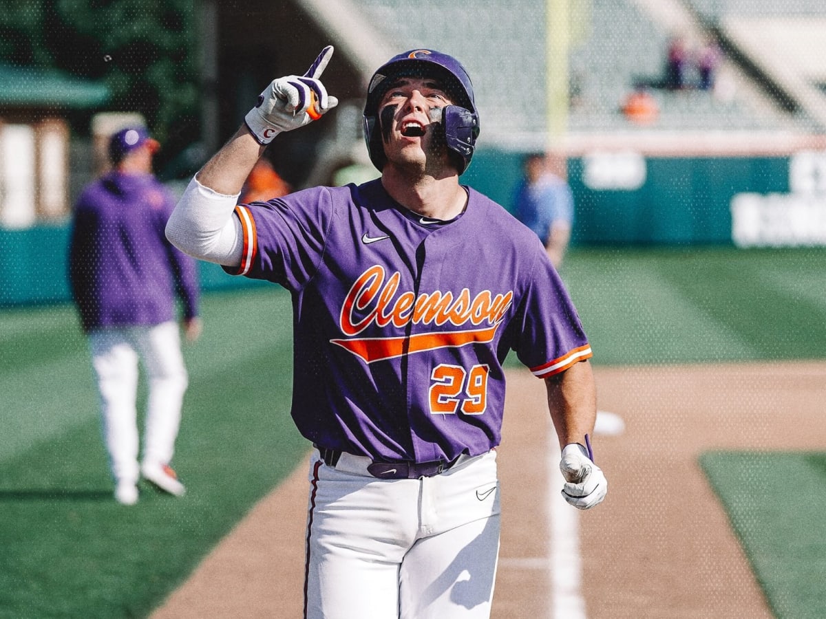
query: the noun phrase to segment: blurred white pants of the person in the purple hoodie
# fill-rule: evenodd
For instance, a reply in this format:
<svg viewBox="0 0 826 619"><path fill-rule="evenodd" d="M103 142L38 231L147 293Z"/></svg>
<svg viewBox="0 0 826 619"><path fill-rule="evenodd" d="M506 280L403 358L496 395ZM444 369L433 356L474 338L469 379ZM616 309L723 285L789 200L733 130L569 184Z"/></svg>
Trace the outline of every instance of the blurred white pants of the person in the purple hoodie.
<svg viewBox="0 0 826 619"><path fill-rule="evenodd" d="M144 366L149 391L142 461L168 464L188 385L178 324L101 328L89 333L89 345L112 476L116 482L136 484L140 475L138 361Z"/></svg>

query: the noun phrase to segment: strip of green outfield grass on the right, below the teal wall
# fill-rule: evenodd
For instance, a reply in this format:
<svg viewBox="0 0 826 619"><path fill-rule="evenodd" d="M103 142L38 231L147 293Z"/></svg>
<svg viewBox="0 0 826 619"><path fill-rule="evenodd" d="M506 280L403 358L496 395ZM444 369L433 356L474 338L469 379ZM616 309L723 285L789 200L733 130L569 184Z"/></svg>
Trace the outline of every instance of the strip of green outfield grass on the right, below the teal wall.
<svg viewBox="0 0 826 619"><path fill-rule="evenodd" d="M563 265L595 363L826 356L826 250L579 251Z"/></svg>

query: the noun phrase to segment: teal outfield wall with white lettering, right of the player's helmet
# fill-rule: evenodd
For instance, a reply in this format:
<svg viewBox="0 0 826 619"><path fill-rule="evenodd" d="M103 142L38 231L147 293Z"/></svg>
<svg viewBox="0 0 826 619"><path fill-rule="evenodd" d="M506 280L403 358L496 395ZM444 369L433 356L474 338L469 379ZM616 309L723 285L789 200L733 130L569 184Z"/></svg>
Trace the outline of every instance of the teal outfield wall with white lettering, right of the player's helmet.
<svg viewBox="0 0 826 619"><path fill-rule="evenodd" d="M482 151L463 182L512 211L523 155ZM594 149L567 161L578 246L826 244L824 148L759 155Z"/></svg>

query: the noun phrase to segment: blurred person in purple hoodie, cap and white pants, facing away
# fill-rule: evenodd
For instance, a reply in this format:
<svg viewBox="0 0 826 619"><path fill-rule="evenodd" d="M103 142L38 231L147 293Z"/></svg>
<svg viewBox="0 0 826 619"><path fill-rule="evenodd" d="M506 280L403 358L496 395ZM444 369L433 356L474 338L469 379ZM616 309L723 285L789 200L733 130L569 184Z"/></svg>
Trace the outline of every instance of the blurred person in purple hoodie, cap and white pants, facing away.
<svg viewBox="0 0 826 619"><path fill-rule="evenodd" d="M69 246L69 281L97 376L115 499L124 505L137 502L140 475L169 494L184 494L169 466L188 384L176 294L186 337L194 341L201 333L196 263L164 235L175 201L152 173L158 149L144 127L112 135L112 171L78 198ZM139 359L149 385L140 465Z"/></svg>

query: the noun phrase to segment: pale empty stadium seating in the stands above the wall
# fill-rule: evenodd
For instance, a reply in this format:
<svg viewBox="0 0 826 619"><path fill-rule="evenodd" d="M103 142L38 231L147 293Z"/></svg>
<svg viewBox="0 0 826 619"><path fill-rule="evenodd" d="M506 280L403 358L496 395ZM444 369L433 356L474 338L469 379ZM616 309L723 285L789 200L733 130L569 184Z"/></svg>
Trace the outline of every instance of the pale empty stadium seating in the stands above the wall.
<svg viewBox="0 0 826 619"><path fill-rule="evenodd" d="M657 88L664 77L672 32L644 12L644 2L590 0L572 3L569 50L571 106L568 127L574 132L634 130L620 111L637 83L653 84L659 106L657 123L645 130L807 130L801 115L779 111L769 97L754 105L759 88L720 96L717 92L670 92ZM700 32L720 17L738 15L826 16L822 0L685 0L698 18ZM363 0L359 7L388 40L402 47L434 46L463 61L473 78L486 141L541 133L547 126L544 102L545 15L533 0L501 2L453 0L425 9L420 3ZM434 14L437 13L437 14ZM534 16L535 18L532 18ZM730 69L738 70L729 63ZM740 78L748 79L743 72ZM770 110L774 106L775 109ZM771 113L767 113L767 111Z"/></svg>

